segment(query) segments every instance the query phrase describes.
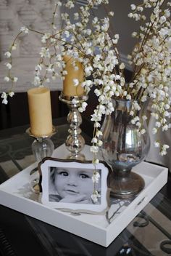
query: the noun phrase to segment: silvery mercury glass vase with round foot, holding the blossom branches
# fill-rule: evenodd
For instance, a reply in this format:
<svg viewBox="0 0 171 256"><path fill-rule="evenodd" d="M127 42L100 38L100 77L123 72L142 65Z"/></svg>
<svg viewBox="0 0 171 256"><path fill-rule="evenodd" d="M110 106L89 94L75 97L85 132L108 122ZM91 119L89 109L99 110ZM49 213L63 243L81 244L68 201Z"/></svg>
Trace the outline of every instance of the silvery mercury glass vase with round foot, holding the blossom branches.
<svg viewBox="0 0 171 256"><path fill-rule="evenodd" d="M135 113L146 130L143 134L138 132L138 127L131 121L133 101L112 99L112 103L114 112L105 117L102 125L102 156L112 167L109 177L112 196L128 199L136 196L144 187L143 178L132 168L143 161L149 151L149 132L146 121L142 119L147 103L143 103L141 111Z"/></svg>

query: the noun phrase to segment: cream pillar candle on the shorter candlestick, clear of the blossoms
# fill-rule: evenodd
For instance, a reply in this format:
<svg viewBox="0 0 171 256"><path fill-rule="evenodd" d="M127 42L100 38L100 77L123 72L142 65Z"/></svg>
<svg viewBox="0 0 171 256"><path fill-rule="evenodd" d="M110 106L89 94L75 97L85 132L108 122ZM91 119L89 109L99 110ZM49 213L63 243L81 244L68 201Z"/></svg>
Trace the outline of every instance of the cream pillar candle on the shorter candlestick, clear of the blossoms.
<svg viewBox="0 0 171 256"><path fill-rule="evenodd" d="M49 135L52 132L51 96L46 87L28 90L30 132L36 137Z"/></svg>

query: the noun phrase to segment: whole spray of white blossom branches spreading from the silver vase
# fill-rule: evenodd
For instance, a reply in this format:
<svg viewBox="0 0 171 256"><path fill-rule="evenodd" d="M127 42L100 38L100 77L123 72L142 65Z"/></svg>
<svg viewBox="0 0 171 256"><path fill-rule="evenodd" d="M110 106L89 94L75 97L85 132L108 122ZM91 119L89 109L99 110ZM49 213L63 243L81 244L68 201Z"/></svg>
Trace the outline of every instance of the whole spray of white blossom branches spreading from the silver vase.
<svg viewBox="0 0 171 256"><path fill-rule="evenodd" d="M128 14L135 21L141 21L138 32L133 32L136 44L131 55L128 56L133 64L133 79L127 84L124 76L124 63L120 62L117 50L119 35L109 33L110 19L114 12L108 12L106 17L99 18L91 15L93 7L98 8L101 4L109 4L108 0L88 0L85 6L78 7L75 12L74 23L70 20L67 10L73 9L75 0L57 1L53 15L51 29L48 33L33 31L31 28L22 27L20 33L39 33L43 47L40 50L40 60L35 68L33 84L43 86L57 76L64 79L67 71L64 70L66 63L64 55L73 57L73 67L78 69L79 62L84 67L85 80L82 83L85 94L95 87L94 93L98 97L99 104L91 116L94 122L94 132L91 152L94 153L93 164L98 163L96 154L102 145L101 140L101 117L114 111L112 97L126 100L138 100L133 104L130 116L133 124L143 134L145 129L138 119L137 113L149 98L152 101L152 115L156 121L154 133L159 129L165 131L170 125L169 95L171 85L171 25L170 25L170 1L167 0L143 0L141 4L130 4L131 12ZM62 13L63 27L57 30L55 17L57 8L63 6L66 12ZM146 17L146 9L151 9L151 15ZM51 31L51 32L50 32ZM18 34L18 36L20 35ZM12 47L5 53L9 58L6 63L8 75L5 81L17 81L17 77L11 74L12 50L16 49L14 39ZM75 87L78 79L73 80ZM12 91L12 90L10 90ZM8 95L8 93L7 93ZM7 97L4 103L7 103ZM80 105L79 111L83 112L87 103ZM161 154L166 151L165 145L160 145Z"/></svg>

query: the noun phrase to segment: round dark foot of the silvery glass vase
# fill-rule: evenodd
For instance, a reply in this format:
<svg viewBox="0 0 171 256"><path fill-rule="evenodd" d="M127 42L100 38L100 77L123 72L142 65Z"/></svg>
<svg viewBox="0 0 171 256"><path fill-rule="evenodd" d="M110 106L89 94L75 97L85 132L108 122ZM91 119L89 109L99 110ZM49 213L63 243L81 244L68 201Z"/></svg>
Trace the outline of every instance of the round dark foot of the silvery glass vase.
<svg viewBox="0 0 171 256"><path fill-rule="evenodd" d="M138 195L144 188L143 178L135 172L130 172L126 177L114 175L109 178L111 196L117 199L130 199Z"/></svg>

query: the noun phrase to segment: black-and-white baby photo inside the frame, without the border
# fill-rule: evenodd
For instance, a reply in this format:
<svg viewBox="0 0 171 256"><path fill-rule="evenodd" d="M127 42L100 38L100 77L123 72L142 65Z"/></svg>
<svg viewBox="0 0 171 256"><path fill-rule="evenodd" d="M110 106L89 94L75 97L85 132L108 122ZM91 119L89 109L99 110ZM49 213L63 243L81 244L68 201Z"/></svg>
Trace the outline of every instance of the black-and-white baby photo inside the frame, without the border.
<svg viewBox="0 0 171 256"><path fill-rule="evenodd" d="M101 171L96 191L101 194ZM50 167L49 201L73 204L93 204L93 169ZM98 204L101 197L98 198Z"/></svg>

